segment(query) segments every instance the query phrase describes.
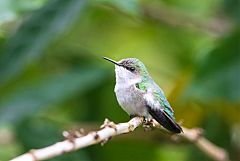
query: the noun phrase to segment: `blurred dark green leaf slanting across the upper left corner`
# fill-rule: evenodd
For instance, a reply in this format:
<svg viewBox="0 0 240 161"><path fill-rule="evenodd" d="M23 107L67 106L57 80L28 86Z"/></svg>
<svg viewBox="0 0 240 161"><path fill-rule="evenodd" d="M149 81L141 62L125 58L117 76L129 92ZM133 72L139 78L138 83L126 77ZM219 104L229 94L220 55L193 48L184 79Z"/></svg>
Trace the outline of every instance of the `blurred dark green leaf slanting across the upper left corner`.
<svg viewBox="0 0 240 161"><path fill-rule="evenodd" d="M24 22L6 43L0 61L0 84L40 58L44 49L79 16L84 0L53 0Z"/></svg>

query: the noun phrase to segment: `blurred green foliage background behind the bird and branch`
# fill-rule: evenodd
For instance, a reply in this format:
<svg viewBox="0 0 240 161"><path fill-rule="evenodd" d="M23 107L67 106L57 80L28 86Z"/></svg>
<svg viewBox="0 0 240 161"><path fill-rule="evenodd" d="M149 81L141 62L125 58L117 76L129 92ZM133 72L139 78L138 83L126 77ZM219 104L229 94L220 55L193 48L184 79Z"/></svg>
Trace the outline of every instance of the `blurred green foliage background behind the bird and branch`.
<svg viewBox="0 0 240 161"><path fill-rule="evenodd" d="M237 0L0 1L0 160L76 123L128 120L101 55L141 59L177 120L240 160L239 11ZM194 145L125 137L51 160L210 160Z"/></svg>

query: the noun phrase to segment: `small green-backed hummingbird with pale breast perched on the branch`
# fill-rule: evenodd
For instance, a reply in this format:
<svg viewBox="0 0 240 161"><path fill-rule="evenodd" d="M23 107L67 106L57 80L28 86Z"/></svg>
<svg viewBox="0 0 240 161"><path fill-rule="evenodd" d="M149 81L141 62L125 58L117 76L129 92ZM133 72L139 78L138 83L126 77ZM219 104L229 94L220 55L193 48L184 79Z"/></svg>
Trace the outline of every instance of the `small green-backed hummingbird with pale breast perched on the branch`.
<svg viewBox="0 0 240 161"><path fill-rule="evenodd" d="M163 90L154 82L140 60L126 58L117 62L103 58L115 64L114 92L119 105L130 117L153 118L170 132L183 132Z"/></svg>

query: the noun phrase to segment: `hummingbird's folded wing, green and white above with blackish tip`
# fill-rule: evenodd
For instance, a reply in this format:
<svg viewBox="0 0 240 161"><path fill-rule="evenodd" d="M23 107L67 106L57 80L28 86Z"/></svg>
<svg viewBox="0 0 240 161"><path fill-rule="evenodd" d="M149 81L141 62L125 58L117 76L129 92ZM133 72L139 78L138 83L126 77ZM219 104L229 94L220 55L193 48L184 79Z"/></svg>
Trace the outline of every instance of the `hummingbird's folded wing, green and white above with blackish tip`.
<svg viewBox="0 0 240 161"><path fill-rule="evenodd" d="M141 84L144 86L144 84ZM145 84L144 100L149 114L163 127L175 133L181 133L182 128L176 123L173 110L168 103L163 91L157 84Z"/></svg>

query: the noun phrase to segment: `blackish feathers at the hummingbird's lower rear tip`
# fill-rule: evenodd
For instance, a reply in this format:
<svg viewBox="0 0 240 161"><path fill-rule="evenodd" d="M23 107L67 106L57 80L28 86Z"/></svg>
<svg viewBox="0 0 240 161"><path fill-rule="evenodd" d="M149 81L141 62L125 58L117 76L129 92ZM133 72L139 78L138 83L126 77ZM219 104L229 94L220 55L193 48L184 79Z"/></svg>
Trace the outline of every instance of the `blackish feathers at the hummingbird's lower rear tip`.
<svg viewBox="0 0 240 161"><path fill-rule="evenodd" d="M164 128L174 133L183 132L182 128L163 110L148 108L150 115Z"/></svg>

